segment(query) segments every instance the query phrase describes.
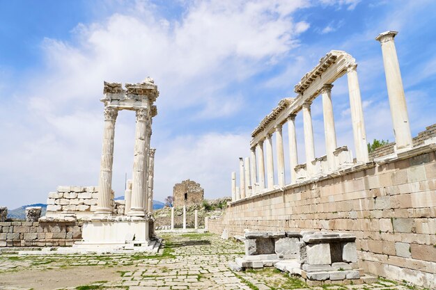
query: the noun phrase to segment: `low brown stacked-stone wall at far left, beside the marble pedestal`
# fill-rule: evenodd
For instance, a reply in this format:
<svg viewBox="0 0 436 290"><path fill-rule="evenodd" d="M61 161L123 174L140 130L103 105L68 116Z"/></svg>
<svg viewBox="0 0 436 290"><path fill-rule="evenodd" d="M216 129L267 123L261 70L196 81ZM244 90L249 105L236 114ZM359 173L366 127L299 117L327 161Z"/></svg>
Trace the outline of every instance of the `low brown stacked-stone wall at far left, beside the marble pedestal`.
<svg viewBox="0 0 436 290"><path fill-rule="evenodd" d="M81 241L78 222L1 222L0 247L70 246Z"/></svg>

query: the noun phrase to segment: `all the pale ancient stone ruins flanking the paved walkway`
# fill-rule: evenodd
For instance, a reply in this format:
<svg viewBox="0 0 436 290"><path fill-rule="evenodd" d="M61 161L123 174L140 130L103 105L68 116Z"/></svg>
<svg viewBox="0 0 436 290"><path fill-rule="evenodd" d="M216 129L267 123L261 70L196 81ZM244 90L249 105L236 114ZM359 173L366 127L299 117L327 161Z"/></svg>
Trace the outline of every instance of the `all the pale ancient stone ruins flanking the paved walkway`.
<svg viewBox="0 0 436 290"><path fill-rule="evenodd" d="M435 289L436 124L412 138L396 35L396 31L387 31L376 38L382 47L395 143L368 153L357 63L347 52L337 50L321 58L295 85L295 97L282 99L251 133L251 155L240 158L238 180L236 172L231 174L232 201L222 216L204 221L205 230L221 234L222 239L244 241L245 255L228 265L233 274L274 266L316 286L360 284L368 281L369 274ZM345 74L354 148L336 143L332 87ZM70 245L57 252L157 251L155 150L150 148L150 137L158 95L150 78L126 83L125 88L121 83L105 82L98 186L59 186L49 193L46 216L39 218L40 208L29 208L25 222L5 221L7 209L0 207L0 247ZM326 154L317 157L311 104L320 95ZM134 111L137 122L132 180L127 182L125 200L116 201L111 178L120 110ZM300 111L303 164L297 158L297 137L301 136L295 133ZM283 124L288 127L288 161L284 159ZM183 208L183 230L187 228L187 205L201 202L203 194L200 185L189 179L174 186L174 205ZM194 220L194 229L198 229L197 211ZM170 231L175 227L174 207L171 226L166 227Z"/></svg>

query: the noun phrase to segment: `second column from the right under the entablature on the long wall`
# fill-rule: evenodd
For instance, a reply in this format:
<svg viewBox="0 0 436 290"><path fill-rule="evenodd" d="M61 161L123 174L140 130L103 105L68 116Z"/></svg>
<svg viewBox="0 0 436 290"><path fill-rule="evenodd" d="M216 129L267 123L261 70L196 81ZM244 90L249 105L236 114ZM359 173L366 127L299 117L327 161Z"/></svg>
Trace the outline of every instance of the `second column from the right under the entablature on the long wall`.
<svg viewBox="0 0 436 290"><path fill-rule="evenodd" d="M321 88L322 115L324 116L325 152L329 170L336 170L334 150L336 150L336 130L334 129L334 115L332 104L332 84L325 84Z"/></svg>

